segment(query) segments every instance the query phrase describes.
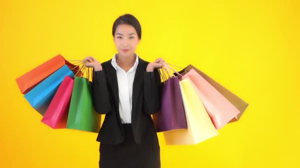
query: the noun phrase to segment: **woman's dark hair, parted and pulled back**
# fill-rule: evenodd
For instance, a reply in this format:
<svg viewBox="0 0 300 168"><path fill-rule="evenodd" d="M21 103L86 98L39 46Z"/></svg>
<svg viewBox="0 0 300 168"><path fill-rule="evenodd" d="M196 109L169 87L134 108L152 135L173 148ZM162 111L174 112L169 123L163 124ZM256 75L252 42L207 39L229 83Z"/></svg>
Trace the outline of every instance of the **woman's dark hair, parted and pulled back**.
<svg viewBox="0 0 300 168"><path fill-rule="evenodd" d="M138 33L139 39L142 38L142 28L141 28L140 22L137 20L137 18L135 18L131 14L124 14L122 16L119 16L114 21L113 26L112 26L112 36L113 37L114 37L114 32L115 32L116 27L120 24L127 24L127 25L134 27Z"/></svg>

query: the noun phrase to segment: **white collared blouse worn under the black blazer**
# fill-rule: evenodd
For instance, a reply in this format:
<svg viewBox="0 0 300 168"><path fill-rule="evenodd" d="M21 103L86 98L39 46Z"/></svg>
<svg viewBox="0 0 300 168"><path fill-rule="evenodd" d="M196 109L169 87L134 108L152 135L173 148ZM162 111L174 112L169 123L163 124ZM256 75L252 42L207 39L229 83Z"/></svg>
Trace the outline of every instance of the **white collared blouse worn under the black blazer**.
<svg viewBox="0 0 300 168"><path fill-rule="evenodd" d="M139 63L139 57L135 55L134 65L127 71L123 70L116 63L117 54L112 58L112 66L116 70L119 89L119 112L122 124L131 123L132 110L132 85L135 72Z"/></svg>

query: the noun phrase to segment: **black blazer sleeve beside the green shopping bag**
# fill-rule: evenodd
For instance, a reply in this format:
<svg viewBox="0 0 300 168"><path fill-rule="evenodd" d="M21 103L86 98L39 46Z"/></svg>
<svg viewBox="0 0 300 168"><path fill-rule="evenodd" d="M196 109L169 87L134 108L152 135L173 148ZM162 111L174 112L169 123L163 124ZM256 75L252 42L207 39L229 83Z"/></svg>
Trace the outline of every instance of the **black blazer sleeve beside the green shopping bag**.
<svg viewBox="0 0 300 168"><path fill-rule="evenodd" d="M110 94L108 91L108 83L106 80L105 70L94 71L93 68L93 104L95 111L99 114L107 114L111 112Z"/></svg>

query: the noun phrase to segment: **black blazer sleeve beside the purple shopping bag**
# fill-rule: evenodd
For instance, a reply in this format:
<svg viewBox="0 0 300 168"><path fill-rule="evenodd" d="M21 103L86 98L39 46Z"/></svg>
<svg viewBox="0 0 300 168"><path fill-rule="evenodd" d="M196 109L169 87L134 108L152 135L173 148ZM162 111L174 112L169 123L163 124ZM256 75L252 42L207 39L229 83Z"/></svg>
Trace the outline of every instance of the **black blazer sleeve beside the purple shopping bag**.
<svg viewBox="0 0 300 168"><path fill-rule="evenodd" d="M161 106L161 79L157 69L144 74L143 109L146 114L154 114Z"/></svg>

